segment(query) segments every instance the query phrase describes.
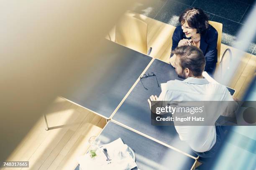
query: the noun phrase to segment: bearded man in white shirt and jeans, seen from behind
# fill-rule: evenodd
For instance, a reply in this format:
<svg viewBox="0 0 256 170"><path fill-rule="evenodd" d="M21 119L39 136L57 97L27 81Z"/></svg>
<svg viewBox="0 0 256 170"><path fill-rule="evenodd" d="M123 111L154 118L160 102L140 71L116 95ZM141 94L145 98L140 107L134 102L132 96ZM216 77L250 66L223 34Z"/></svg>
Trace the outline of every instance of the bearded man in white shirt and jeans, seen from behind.
<svg viewBox="0 0 256 170"><path fill-rule="evenodd" d="M208 82L202 72L205 69L205 56L195 46L177 47L173 53L175 71L185 80L171 80L161 84L162 92L157 96L151 95L151 101L233 101L232 96L224 85ZM216 109L213 115L215 122L222 114ZM175 122L174 122L175 125ZM202 158L211 158L217 152L223 140L223 130L220 126L176 126L179 138L186 141L192 150Z"/></svg>

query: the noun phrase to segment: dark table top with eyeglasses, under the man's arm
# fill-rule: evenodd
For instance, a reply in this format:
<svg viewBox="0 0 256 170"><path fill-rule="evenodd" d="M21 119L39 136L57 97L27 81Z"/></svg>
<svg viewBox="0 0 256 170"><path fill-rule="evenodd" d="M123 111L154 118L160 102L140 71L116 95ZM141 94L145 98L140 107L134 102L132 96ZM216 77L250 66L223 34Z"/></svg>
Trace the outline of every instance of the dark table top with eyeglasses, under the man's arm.
<svg viewBox="0 0 256 170"><path fill-rule="evenodd" d="M177 77L174 68L161 60L155 59L148 70L146 70L146 73L149 72L156 74L159 85L169 80L181 80ZM142 81L148 90L145 90L141 81L139 81L112 119L196 158L197 155L193 153L189 145L179 139L174 126L151 125L151 111L147 99L151 95L159 96L161 87L158 87L154 76L142 79Z"/></svg>

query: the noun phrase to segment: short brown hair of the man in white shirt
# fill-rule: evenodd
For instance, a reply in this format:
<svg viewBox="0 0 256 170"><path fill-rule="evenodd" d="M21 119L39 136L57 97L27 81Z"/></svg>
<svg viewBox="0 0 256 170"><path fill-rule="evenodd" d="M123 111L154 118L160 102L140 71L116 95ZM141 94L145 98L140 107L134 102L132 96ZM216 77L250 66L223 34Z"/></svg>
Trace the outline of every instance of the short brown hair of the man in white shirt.
<svg viewBox="0 0 256 170"><path fill-rule="evenodd" d="M205 56L199 48L184 45L177 47L172 53L180 56L182 69L188 68L194 76L202 75L205 70Z"/></svg>

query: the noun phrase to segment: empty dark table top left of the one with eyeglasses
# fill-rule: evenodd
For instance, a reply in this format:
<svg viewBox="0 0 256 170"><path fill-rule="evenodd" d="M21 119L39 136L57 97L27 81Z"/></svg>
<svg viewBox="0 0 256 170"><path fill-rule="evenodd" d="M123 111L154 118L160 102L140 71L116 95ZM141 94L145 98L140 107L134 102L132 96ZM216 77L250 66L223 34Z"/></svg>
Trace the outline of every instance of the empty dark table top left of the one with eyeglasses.
<svg viewBox="0 0 256 170"><path fill-rule="evenodd" d="M72 93L63 97L110 118L152 57L109 40L102 40L99 48L94 73L71 84Z"/></svg>

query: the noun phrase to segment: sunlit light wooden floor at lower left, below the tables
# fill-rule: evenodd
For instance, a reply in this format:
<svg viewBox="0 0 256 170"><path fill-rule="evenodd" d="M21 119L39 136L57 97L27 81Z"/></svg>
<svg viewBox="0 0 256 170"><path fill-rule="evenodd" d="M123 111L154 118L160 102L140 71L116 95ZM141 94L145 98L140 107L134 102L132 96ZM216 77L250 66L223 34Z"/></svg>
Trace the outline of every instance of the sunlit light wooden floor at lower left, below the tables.
<svg viewBox="0 0 256 170"><path fill-rule="evenodd" d="M106 124L104 118L61 97L52 103L46 117L50 130L44 130L42 117L8 158L29 161L29 168L6 170L73 170L77 157L89 147L89 138L99 135Z"/></svg>

